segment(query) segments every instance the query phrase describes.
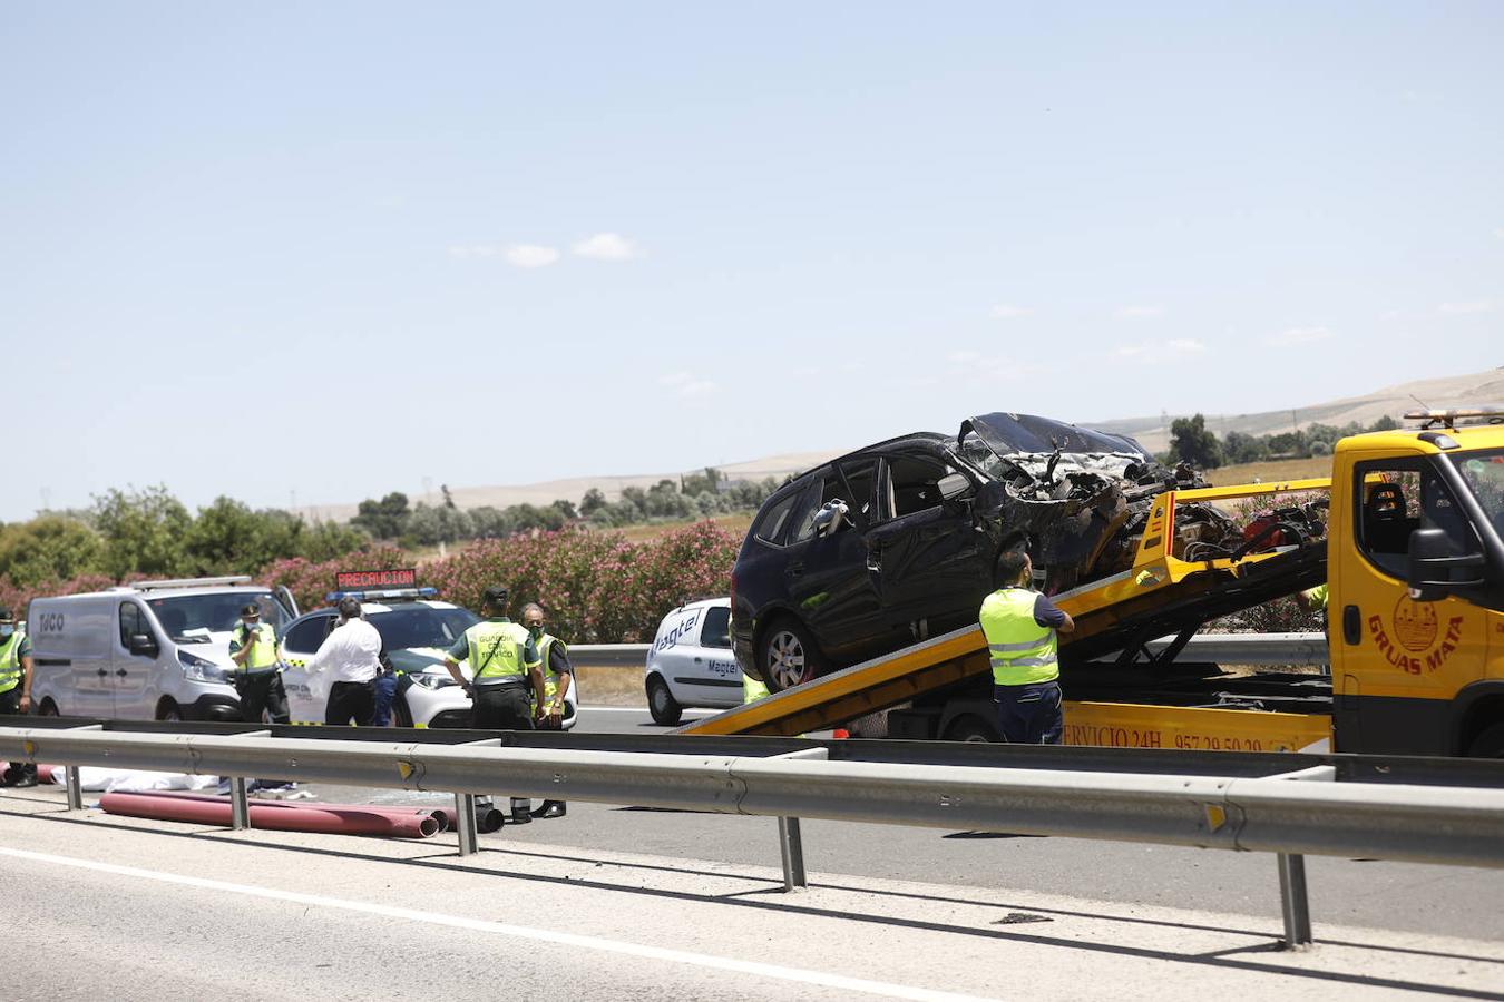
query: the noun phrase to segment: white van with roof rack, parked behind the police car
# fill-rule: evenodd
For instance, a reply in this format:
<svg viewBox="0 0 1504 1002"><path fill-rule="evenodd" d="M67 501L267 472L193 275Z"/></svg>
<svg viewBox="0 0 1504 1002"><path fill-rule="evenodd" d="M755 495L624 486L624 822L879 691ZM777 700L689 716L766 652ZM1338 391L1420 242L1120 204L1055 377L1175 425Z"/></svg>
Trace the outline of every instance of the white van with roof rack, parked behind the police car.
<svg viewBox="0 0 1504 1002"><path fill-rule="evenodd" d="M248 577L140 581L32 599L32 705L44 717L241 720L230 632L256 602L280 634L287 589Z"/></svg>

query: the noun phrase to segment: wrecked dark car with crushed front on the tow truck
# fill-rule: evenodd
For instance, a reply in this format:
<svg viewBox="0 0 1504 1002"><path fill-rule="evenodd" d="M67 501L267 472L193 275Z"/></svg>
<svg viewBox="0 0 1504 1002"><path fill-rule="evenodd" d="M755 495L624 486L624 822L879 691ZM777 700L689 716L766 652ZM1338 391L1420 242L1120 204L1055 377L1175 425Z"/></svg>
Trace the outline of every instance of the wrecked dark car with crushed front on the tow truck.
<svg viewBox="0 0 1504 1002"><path fill-rule="evenodd" d="M1205 487L1136 440L1029 415L970 418L809 470L764 502L731 575L732 649L773 691L976 622L1005 547L1057 593L1128 569L1151 499ZM1176 511L1179 547L1230 521ZM1194 559L1194 556L1191 557Z"/></svg>

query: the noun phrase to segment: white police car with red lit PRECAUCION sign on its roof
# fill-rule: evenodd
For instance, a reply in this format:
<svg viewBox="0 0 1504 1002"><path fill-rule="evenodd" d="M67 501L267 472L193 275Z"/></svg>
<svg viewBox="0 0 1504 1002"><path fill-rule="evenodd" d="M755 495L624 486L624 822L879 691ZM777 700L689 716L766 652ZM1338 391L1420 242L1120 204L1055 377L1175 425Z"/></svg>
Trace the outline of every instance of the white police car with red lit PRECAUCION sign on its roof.
<svg viewBox="0 0 1504 1002"><path fill-rule="evenodd" d="M323 723L332 679L328 672L310 672L307 665L340 619L332 605L350 596L359 599L361 616L381 634L387 656L399 673L391 723L399 727L469 727L471 700L454 684L444 656L469 626L480 622L480 616L439 601L433 587L331 592L326 596L331 607L289 623L281 632L281 655L286 662L283 685L287 690L287 712L293 723ZM471 676L466 661L460 662L460 672L465 678ZM575 726L579 714L576 688L578 682L564 697L566 730Z"/></svg>

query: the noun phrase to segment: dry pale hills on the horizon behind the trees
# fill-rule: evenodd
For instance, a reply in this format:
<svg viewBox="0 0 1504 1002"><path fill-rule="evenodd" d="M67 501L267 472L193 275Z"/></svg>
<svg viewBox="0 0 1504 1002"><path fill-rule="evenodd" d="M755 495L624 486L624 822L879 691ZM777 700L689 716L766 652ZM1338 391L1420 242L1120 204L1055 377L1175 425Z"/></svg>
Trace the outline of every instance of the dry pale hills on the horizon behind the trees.
<svg viewBox="0 0 1504 1002"><path fill-rule="evenodd" d="M1412 410L1420 406L1417 398L1426 401L1427 407L1504 404L1504 368L1490 368L1468 376L1448 376L1442 379L1417 380L1414 383L1400 383L1396 386L1385 386L1384 389L1363 397L1346 397L1328 403L1314 403L1293 410L1266 410L1253 415L1206 415L1206 427L1211 431L1215 431L1218 437L1226 437L1230 431L1263 436L1290 431L1293 428L1305 428L1311 424L1340 427L1351 421L1357 421L1369 425L1384 415L1390 415L1391 418L1403 416L1406 410ZM1173 413L1154 418L1122 418L1116 421L1096 421L1092 422L1092 427L1102 431L1133 436L1151 452L1163 452L1170 445L1170 421L1184 416L1188 415ZM904 430L878 430L874 433L872 440L877 442L896 434L898 431ZM847 449L827 449L823 452L770 455L761 460L732 463L719 469L732 479L760 481L766 476L782 479L790 473L808 470L809 467L824 463L832 457L841 455L851 448L859 446L853 445ZM599 488L606 496L606 500L614 502L621 497L623 488L647 488L662 479L677 481L680 473L690 472L695 470L675 470L669 473L629 473L621 476L579 476L561 481L544 481L541 484L493 487L462 487L451 484L450 493L459 508L480 508L483 505L507 508L508 505L523 503L547 505L549 502L561 497L579 503L579 499L584 497L585 491L593 487ZM414 503L426 502L429 505L438 505L442 502L438 491L429 494L414 494L411 500ZM343 505L302 508L299 509L299 514L313 520L332 518L344 521L355 514L355 509L356 500L350 500Z"/></svg>

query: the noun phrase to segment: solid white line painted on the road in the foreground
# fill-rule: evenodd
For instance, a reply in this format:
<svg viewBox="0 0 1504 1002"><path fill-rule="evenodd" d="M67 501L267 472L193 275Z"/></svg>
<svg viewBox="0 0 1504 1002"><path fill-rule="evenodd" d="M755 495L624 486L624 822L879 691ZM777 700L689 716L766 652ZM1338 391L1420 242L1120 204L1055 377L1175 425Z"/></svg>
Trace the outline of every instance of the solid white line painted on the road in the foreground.
<svg viewBox="0 0 1504 1002"><path fill-rule="evenodd" d="M206 877L190 877L177 873L161 873L156 870L140 870L137 867L120 867L113 862L96 862L93 859L77 859L74 856L54 856L45 852L30 852L27 849L8 849L0 846L0 855L15 859L30 859L33 862L50 862L59 867L75 867L78 870L93 870L96 873L113 873L123 877L141 877L161 883L177 883L203 891L223 891L227 894L245 894L248 897L269 898L272 901L292 901L295 904L310 904L319 907L340 909L346 912L361 912L382 918L408 919L411 922L429 922L430 925L448 925L477 933L492 933L496 936L511 936L532 942L556 943L579 949L599 949L602 952L620 954L623 957L641 957L647 960L663 960L668 963L687 964L692 967L710 967L711 970L734 970L737 973L760 978L776 978L779 981L794 981L800 984L823 985L827 988L842 988L847 991L865 991L868 994L883 994L893 999L917 999L920 1002L987 1002L982 996L955 994L951 991L934 991L931 988L916 988L904 984L889 984L884 981L866 981L863 978L848 978L823 970L806 970L802 967L782 967L764 964L754 960L735 960L731 957L714 957L711 954L695 954L684 949L666 949L663 946L644 946L641 943L626 943L599 936L579 936L576 933L555 933L547 928L531 928L528 925L510 925L505 922L489 922L480 918L463 918L459 915L442 915L439 912L420 912L417 909L393 907L390 904L370 904L365 901L349 901L331 898L320 894L302 894L299 891L277 891L272 888L257 888L248 883L229 883L226 880L209 880Z"/></svg>

